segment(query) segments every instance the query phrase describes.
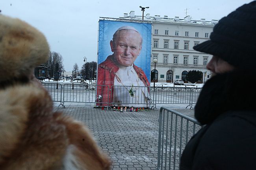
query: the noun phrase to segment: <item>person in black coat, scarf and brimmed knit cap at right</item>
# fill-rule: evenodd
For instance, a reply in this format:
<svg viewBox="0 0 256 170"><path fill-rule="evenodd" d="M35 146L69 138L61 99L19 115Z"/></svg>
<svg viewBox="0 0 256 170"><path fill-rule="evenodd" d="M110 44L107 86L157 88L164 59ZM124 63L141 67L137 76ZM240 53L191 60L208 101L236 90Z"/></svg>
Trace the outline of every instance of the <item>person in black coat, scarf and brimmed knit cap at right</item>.
<svg viewBox="0 0 256 170"><path fill-rule="evenodd" d="M203 128L187 143L180 170L255 170L256 1L219 20L194 49L213 55L213 77L195 106Z"/></svg>

